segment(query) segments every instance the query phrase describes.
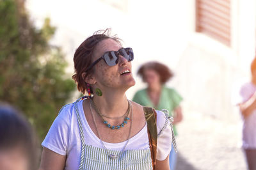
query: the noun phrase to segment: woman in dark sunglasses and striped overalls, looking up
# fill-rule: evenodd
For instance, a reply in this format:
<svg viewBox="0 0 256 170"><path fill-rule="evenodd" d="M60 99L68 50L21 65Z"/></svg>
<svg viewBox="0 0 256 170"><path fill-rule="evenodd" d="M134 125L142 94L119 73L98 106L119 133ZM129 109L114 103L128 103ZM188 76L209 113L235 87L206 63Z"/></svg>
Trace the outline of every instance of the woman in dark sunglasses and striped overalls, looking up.
<svg viewBox="0 0 256 170"><path fill-rule="evenodd" d="M65 105L52 123L42 143L41 170L169 169L170 121L156 111L156 165L152 164L143 107L125 95L135 84L132 49L108 34L109 29L97 31L74 54L72 78L87 96Z"/></svg>

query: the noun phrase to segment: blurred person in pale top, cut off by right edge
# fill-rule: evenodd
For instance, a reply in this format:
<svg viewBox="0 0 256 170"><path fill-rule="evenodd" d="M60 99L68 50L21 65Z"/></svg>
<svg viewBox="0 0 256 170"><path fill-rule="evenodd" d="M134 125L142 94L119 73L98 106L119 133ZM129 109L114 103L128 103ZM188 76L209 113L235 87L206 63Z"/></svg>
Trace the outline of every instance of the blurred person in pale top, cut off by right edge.
<svg viewBox="0 0 256 170"><path fill-rule="evenodd" d="M236 104L243 117L243 149L249 170L256 170L256 58L251 63L252 79L239 90Z"/></svg>

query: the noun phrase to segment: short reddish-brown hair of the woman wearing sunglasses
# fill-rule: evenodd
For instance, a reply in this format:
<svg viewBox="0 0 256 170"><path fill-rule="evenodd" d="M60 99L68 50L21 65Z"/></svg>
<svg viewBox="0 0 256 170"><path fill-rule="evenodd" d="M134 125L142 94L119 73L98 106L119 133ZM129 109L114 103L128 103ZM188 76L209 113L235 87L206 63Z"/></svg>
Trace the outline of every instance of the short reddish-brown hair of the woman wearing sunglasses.
<svg viewBox="0 0 256 170"><path fill-rule="evenodd" d="M88 75L93 73L93 68L88 70L88 72L86 72L86 76L84 77L84 79L82 77L82 73L84 73L86 68L88 68L88 66L92 64L93 51L95 50L95 47L97 46L97 44L102 40L106 40L108 38L111 38L116 42L121 43L120 38L116 37L115 35L110 36L110 33L111 33L111 29L109 28L106 30L96 31L95 33L93 33L92 36L86 38L86 40L84 40L84 42L81 43L81 45L79 45L79 47L76 49L76 52L74 54L74 59L73 59L75 73L72 76L72 79L76 81L77 89L82 93L88 92L86 88L87 87L86 82L84 81L84 79ZM91 92L92 92L92 88L91 88Z"/></svg>

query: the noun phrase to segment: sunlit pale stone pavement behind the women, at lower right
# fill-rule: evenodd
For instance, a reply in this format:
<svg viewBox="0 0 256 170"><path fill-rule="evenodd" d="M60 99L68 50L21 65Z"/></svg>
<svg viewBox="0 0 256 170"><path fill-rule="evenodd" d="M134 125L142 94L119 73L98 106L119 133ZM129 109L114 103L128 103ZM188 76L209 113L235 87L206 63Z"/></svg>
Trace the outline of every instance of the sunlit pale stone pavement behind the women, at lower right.
<svg viewBox="0 0 256 170"><path fill-rule="evenodd" d="M176 170L246 170L239 123L184 111L177 128Z"/></svg>

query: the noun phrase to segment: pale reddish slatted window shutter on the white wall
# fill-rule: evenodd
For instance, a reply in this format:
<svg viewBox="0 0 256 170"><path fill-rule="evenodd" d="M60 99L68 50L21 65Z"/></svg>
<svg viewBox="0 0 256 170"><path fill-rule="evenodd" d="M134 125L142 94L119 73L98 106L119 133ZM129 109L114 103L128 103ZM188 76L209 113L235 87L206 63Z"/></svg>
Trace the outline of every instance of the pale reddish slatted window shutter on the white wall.
<svg viewBox="0 0 256 170"><path fill-rule="evenodd" d="M230 46L230 0L196 0L196 31Z"/></svg>

